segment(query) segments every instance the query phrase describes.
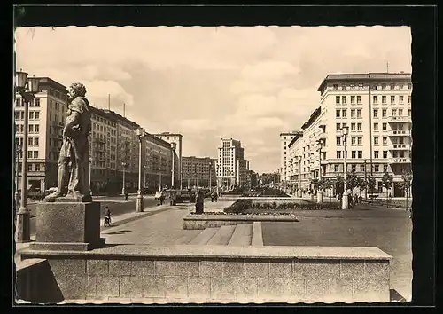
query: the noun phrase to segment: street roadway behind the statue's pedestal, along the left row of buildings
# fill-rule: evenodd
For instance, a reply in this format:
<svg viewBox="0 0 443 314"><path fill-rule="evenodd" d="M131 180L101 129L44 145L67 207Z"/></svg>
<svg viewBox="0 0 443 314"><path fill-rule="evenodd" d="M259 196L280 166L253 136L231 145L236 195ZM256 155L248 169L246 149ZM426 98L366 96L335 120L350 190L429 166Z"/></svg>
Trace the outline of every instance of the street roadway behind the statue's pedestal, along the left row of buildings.
<svg viewBox="0 0 443 314"><path fill-rule="evenodd" d="M124 200L123 196L100 197L94 196L94 201L100 202L100 216L103 217L103 210L106 206L111 209L111 216L119 216L136 211L136 195L128 195L128 201ZM165 200L166 201L166 200ZM153 195L144 195L144 208L152 208L157 206L158 200L154 200ZM165 202L166 203L166 202ZM35 215L37 202L27 204L27 208L31 211L30 228L31 236L35 235Z"/></svg>

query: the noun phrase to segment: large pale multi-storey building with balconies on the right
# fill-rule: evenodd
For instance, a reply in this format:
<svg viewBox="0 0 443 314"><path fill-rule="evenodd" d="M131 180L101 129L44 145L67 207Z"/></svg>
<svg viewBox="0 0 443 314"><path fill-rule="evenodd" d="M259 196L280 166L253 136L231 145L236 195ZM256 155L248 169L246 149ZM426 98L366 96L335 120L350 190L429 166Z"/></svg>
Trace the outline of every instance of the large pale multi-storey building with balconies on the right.
<svg viewBox="0 0 443 314"><path fill-rule="evenodd" d="M347 171L374 176L379 192L387 171L393 177L392 196L403 196L401 175L411 169L411 75L327 75L318 91L321 106L303 124L299 143L291 145L291 155L302 158L302 188L320 169L323 177L343 175L346 153ZM343 127L349 128L346 152Z"/></svg>

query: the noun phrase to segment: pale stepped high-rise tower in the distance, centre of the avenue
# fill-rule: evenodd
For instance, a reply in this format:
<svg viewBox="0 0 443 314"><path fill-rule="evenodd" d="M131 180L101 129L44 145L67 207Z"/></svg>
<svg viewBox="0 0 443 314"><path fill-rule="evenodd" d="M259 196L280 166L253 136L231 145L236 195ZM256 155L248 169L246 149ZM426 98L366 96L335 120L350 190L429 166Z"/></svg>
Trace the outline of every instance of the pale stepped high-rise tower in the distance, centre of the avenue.
<svg viewBox="0 0 443 314"><path fill-rule="evenodd" d="M241 142L232 138L221 138L216 163L217 180L223 188L246 184L247 161Z"/></svg>

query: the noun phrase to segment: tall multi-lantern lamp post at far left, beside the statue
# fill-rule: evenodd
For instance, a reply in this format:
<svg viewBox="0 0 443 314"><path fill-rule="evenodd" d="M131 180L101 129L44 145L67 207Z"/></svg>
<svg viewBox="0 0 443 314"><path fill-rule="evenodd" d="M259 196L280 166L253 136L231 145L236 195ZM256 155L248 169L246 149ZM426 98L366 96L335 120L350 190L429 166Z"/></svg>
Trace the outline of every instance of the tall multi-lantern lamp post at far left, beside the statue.
<svg viewBox="0 0 443 314"><path fill-rule="evenodd" d="M23 149L21 165L21 198L19 212L17 213L17 224L15 239L18 243L29 242L30 232L30 212L27 208L27 122L29 102L33 101L38 93L38 78L27 78L27 73L20 71L15 74L15 91L24 100L24 122L23 122Z"/></svg>

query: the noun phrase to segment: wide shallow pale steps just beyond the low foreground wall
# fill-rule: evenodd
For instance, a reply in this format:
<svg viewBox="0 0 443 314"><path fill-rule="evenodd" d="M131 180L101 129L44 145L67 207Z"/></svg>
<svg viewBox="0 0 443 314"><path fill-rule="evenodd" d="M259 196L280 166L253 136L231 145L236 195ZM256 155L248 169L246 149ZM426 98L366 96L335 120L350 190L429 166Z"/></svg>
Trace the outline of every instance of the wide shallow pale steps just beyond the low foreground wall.
<svg viewBox="0 0 443 314"><path fill-rule="evenodd" d="M191 239L190 245L233 246L233 247L261 247L263 238L261 223L223 225L221 227L206 228Z"/></svg>

